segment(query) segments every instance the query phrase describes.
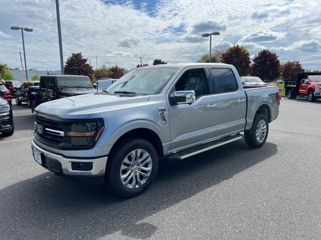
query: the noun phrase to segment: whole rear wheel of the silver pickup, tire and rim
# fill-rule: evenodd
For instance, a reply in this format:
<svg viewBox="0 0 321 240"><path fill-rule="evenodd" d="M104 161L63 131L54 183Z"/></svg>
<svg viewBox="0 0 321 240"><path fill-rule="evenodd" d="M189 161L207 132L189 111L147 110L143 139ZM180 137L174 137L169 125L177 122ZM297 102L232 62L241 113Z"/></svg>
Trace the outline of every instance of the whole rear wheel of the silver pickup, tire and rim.
<svg viewBox="0 0 321 240"><path fill-rule="evenodd" d="M256 114L250 130L244 132L245 142L250 147L261 147L267 138L269 132L269 122L266 115Z"/></svg>

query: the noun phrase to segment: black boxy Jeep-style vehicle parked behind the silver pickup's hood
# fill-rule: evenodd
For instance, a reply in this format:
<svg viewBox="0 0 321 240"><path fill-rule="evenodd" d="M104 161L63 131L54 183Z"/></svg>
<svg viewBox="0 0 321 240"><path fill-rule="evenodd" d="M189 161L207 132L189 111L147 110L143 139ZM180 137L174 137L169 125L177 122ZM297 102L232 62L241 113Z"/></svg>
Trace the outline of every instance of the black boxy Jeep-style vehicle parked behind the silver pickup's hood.
<svg viewBox="0 0 321 240"><path fill-rule="evenodd" d="M39 86L28 87L26 98L34 112L43 102L96 91L88 76L44 75L40 76Z"/></svg>

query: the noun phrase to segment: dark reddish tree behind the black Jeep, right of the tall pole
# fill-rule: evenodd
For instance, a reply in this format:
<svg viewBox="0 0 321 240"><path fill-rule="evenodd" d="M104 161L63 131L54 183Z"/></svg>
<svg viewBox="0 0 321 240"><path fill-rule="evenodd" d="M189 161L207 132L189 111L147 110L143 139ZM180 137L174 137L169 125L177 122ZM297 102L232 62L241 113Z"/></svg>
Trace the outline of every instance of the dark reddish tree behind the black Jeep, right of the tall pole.
<svg viewBox="0 0 321 240"><path fill-rule="evenodd" d="M65 74L67 75L83 75L90 79L93 77L93 68L87 63L88 58L84 58L81 52L71 53L65 64Z"/></svg>

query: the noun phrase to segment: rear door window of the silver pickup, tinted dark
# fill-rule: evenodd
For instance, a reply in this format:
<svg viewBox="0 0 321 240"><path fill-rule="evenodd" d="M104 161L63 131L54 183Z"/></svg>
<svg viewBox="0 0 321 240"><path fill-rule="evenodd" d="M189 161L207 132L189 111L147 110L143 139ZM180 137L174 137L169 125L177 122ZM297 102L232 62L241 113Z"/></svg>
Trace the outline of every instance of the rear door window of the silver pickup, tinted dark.
<svg viewBox="0 0 321 240"><path fill-rule="evenodd" d="M232 69L211 68L211 70L212 76L209 84L212 93L230 92L238 89L237 81Z"/></svg>

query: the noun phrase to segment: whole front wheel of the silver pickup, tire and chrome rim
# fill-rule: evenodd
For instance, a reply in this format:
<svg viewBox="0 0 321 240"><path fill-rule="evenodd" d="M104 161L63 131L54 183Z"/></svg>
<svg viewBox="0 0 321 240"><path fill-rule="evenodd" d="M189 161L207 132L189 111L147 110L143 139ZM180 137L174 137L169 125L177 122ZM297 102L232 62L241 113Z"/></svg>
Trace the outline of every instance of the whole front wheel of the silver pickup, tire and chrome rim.
<svg viewBox="0 0 321 240"><path fill-rule="evenodd" d="M141 194L154 179L158 156L153 145L142 138L120 142L108 157L105 185L122 197Z"/></svg>

